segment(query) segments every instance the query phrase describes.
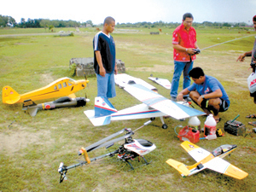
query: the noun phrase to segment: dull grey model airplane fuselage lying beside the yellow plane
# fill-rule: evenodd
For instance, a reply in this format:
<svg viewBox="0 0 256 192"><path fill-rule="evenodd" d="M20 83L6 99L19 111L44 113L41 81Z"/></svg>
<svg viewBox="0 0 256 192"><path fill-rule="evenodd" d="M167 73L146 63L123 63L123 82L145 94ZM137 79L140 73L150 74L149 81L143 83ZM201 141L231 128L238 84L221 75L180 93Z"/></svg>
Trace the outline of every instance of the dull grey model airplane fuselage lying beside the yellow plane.
<svg viewBox="0 0 256 192"><path fill-rule="evenodd" d="M22 110L26 110L32 117L36 116L38 109L54 109L54 108L68 108L68 107L83 107L86 102L90 102L89 99L84 97L71 98L69 96L61 97L54 102L44 102L36 104L31 99L23 102Z"/></svg>

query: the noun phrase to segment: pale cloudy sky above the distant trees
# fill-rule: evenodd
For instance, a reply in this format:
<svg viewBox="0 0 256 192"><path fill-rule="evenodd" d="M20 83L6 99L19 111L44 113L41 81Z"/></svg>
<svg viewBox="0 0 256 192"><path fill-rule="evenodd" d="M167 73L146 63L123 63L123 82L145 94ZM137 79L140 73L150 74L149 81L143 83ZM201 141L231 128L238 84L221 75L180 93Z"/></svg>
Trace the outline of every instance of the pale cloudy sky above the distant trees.
<svg viewBox="0 0 256 192"><path fill-rule="evenodd" d="M17 23L27 20L91 20L94 25L112 16L116 23L182 22L191 13L195 22L245 22L252 24L256 0L9 0L0 6L0 15Z"/></svg>

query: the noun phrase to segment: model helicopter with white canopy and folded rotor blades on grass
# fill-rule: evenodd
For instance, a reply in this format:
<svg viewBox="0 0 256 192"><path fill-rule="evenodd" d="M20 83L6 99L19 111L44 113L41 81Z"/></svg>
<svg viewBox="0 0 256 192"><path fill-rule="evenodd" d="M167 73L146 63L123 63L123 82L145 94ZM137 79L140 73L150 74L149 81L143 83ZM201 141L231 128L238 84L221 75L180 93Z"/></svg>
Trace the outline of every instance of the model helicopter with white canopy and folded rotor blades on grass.
<svg viewBox="0 0 256 192"><path fill-rule="evenodd" d="M148 125L150 122L151 121L148 121L144 125ZM138 129L142 128L143 126L139 127ZM112 139L113 137L119 136L123 132L126 132L125 136ZM100 160L105 157L113 157L115 154L118 154L117 157L119 160L125 161L129 166L131 166L131 170L134 170L134 167L131 165L131 162L129 160L134 160L136 157L138 158L138 161L140 161L139 158L142 157L143 160L145 161L145 164L143 164L143 165L148 165L149 162L143 157L143 155L150 153L156 147L155 147L154 143L151 143L148 140L133 139L131 137L133 134L134 134L134 131L131 131L131 129L125 128L121 131L114 133L111 136L108 136L108 137L102 139L99 142L93 143L92 145L90 145L87 148L81 148L79 150L79 155L82 154L84 156L85 161L82 161L73 166L64 166L64 163L61 162L59 169L58 169L58 172L61 174L60 183L63 180L67 179L66 173L69 169L73 169L77 166L88 165L92 161ZM112 139L112 140L110 140L110 139ZM119 148L114 150L113 152L110 152L108 154L103 154L96 158L91 158L91 159L89 158L88 153L90 151L93 151L93 150L96 150L97 148L102 148L102 147L110 148L111 146L113 146L114 143L117 143L123 139L125 139L125 143L120 145ZM110 141L108 141L108 140L110 140Z"/></svg>

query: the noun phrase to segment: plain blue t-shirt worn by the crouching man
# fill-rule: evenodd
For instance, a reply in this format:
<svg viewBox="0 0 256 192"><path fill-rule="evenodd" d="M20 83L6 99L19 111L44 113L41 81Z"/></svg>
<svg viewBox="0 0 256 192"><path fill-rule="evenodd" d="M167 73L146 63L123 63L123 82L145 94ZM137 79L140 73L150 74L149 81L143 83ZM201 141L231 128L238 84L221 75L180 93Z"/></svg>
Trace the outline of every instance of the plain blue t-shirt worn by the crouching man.
<svg viewBox="0 0 256 192"><path fill-rule="evenodd" d="M189 91L197 90L197 92L200 95L212 93L218 89L220 89L222 92L222 96L220 98L222 98L224 101L226 101L230 105L229 96L227 95L226 91L224 90L223 85L219 83L218 79L213 78L212 76L206 75L206 80L203 84L193 83L188 87Z"/></svg>

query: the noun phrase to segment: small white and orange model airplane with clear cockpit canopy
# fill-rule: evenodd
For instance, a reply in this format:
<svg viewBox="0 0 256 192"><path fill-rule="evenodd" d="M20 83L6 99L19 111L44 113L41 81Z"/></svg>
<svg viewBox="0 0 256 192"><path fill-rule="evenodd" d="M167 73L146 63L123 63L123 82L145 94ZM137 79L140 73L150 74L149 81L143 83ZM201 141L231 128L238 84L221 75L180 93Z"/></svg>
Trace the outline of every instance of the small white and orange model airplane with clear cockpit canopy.
<svg viewBox="0 0 256 192"><path fill-rule="evenodd" d="M193 157L194 160L196 160L197 163L193 166L185 166L183 163L172 159L167 160L166 163L180 172L183 177L193 175L207 168L237 179L242 179L248 175L247 172L243 172L241 169L222 159L234 151L236 149L236 145L222 145L215 148L212 153L196 146L193 143L189 143L188 141L181 143L181 146Z"/></svg>

